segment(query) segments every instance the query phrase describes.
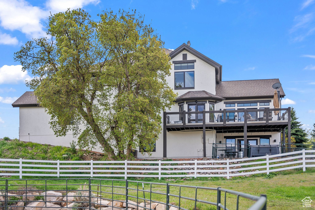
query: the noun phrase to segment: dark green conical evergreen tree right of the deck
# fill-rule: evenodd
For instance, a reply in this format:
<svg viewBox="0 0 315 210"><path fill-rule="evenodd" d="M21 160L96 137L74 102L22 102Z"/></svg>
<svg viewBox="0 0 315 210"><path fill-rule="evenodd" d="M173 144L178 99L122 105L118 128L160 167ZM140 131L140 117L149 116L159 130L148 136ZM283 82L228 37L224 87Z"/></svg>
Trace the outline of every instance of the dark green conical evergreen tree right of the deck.
<svg viewBox="0 0 315 210"><path fill-rule="evenodd" d="M305 129L302 128L301 122L297 121L299 118L296 116L295 109L291 109L291 136L295 138L296 144L303 144L307 141L307 134ZM288 128L285 129L285 134L288 135Z"/></svg>

